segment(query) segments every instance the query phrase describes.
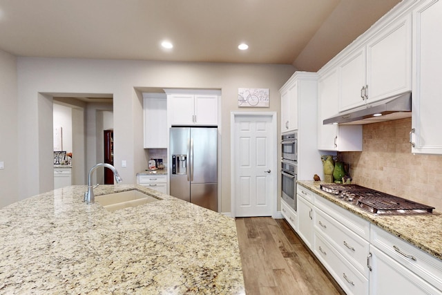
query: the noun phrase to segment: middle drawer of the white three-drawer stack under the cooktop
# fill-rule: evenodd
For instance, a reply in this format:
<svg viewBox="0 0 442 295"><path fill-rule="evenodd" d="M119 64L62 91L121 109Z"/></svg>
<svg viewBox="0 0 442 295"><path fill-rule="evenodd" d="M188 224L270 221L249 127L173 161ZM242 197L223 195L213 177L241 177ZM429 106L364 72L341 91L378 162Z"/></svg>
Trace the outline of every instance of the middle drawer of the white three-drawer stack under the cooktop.
<svg viewBox="0 0 442 295"><path fill-rule="evenodd" d="M369 242L318 208L315 209L314 220L315 231L320 233L359 272L368 278L367 256L369 254Z"/></svg>

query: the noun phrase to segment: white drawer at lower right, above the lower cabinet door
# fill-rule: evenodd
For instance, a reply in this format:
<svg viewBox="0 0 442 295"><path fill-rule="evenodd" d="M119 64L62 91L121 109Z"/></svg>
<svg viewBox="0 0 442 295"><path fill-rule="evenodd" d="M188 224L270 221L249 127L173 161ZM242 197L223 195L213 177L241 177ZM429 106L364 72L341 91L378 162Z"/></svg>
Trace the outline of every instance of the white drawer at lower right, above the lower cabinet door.
<svg viewBox="0 0 442 295"><path fill-rule="evenodd" d="M370 242L405 268L410 269L411 272L442 291L441 260L376 226L372 226L370 231Z"/></svg>

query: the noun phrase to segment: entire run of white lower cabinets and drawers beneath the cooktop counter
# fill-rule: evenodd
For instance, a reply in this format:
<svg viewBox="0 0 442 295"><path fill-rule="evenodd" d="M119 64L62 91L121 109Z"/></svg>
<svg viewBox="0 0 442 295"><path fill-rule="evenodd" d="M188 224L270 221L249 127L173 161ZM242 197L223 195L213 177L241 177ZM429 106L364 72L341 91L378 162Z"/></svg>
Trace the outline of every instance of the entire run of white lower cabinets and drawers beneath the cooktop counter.
<svg viewBox="0 0 442 295"><path fill-rule="evenodd" d="M305 187L297 197L296 232L345 293L442 294L442 260Z"/></svg>

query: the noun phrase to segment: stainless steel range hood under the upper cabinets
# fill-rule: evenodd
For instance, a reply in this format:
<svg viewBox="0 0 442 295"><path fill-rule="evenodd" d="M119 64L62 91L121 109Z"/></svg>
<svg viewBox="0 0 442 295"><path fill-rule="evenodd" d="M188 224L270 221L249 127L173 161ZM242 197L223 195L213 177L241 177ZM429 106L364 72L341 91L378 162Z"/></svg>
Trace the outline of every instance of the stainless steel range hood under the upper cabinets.
<svg viewBox="0 0 442 295"><path fill-rule="evenodd" d="M412 93L396 95L325 119L327 124L362 125L411 117Z"/></svg>

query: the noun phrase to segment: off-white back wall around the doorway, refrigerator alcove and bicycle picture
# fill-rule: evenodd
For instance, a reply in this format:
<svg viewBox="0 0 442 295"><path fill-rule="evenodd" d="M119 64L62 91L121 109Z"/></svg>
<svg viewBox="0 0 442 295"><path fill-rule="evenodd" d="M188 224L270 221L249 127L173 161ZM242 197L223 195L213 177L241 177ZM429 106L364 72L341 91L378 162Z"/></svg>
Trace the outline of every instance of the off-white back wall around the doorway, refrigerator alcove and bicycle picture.
<svg viewBox="0 0 442 295"><path fill-rule="evenodd" d="M145 158L142 145L142 97L139 88L216 88L222 90L222 212L230 211L230 112L238 111L238 88L269 88L270 107L262 111L280 113L278 89L294 73L287 65L205 64L160 61L122 61L104 59L47 59L18 57L19 153L40 153L37 161L18 166L26 187L20 198L46 189L48 167L40 163L50 158L52 142L40 142L48 131L52 135L52 116L46 95L39 93L111 93L115 167L125 183L135 183L135 174L145 169L138 159ZM242 108L242 111L247 109ZM257 109L250 109L257 111ZM259 111L260 109L258 109ZM280 133L278 124L278 133ZM45 128L49 126L49 128ZM86 138L86 153L89 138ZM121 162L127 166L122 168ZM89 165L88 165L89 166Z"/></svg>

